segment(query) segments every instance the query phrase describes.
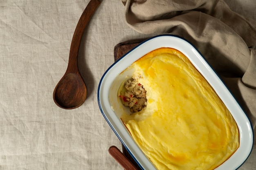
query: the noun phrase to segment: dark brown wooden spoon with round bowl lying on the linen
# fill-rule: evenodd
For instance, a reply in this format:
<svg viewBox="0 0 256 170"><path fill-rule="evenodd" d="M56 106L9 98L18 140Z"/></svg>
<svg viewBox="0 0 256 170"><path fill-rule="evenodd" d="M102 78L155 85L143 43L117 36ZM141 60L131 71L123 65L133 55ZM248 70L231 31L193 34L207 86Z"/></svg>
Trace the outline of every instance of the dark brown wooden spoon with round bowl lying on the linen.
<svg viewBox="0 0 256 170"><path fill-rule="evenodd" d="M100 0L90 0L76 25L70 46L70 56L66 73L58 82L53 92L54 102L61 108L77 108L86 99L87 88L78 69L78 51L85 27L88 25L100 3Z"/></svg>

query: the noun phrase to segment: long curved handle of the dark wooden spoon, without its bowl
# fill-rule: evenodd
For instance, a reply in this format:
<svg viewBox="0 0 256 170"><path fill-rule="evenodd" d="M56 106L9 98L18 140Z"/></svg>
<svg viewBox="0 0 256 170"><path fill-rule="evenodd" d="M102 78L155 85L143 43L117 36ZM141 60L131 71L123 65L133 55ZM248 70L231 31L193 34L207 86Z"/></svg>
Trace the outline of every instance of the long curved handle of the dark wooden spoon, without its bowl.
<svg viewBox="0 0 256 170"><path fill-rule="evenodd" d="M76 29L74 31L74 35L70 45L70 56L67 66L67 72L78 72L77 59L83 32L85 30L85 27L88 25L90 19L92 18L92 15L96 11L97 7L99 7L100 3L100 0L90 0L76 25Z"/></svg>

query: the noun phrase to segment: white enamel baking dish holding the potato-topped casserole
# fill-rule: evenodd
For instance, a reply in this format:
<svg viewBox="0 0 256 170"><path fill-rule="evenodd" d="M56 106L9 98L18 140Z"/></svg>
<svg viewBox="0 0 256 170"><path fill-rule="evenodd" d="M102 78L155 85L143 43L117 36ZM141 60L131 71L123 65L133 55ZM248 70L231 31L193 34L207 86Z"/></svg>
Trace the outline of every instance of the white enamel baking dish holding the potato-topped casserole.
<svg viewBox="0 0 256 170"><path fill-rule="evenodd" d="M236 152L227 159L227 161L216 168L216 170L235 170L239 168L252 151L254 141L252 125L234 96L200 52L190 42L180 37L174 35L158 35L150 38L136 46L108 68L102 76L98 88L99 108L106 121L139 166L144 170L155 170L155 166L153 166L150 160L133 141L130 133L120 119L121 114L127 108L118 100L117 91L127 77L131 76L133 73L133 70L125 69L146 53L161 47L171 47L186 55L195 68L207 79L229 109L239 128L240 146Z"/></svg>

